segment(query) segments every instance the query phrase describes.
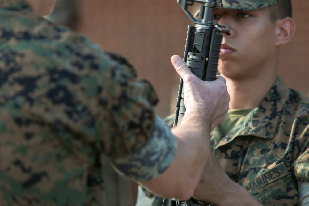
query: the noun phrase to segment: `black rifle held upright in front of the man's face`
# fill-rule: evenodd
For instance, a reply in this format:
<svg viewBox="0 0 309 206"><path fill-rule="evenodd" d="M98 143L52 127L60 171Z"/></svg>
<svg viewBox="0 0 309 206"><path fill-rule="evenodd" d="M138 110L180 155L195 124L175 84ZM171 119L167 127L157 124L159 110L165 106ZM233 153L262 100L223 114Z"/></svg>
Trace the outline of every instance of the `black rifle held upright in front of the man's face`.
<svg viewBox="0 0 309 206"><path fill-rule="evenodd" d="M188 11L188 6L192 6L194 2L200 3L200 12L197 19ZM205 81L216 79L223 32L230 32L229 28L214 21L214 11L223 6L221 2L222 0L177 0L177 3L195 23L195 27L188 26L184 61L193 74ZM184 116L185 110L184 82L180 78L174 127ZM203 204L192 197L185 201L174 198L163 200L163 206L201 205L214 206L213 204Z"/></svg>

